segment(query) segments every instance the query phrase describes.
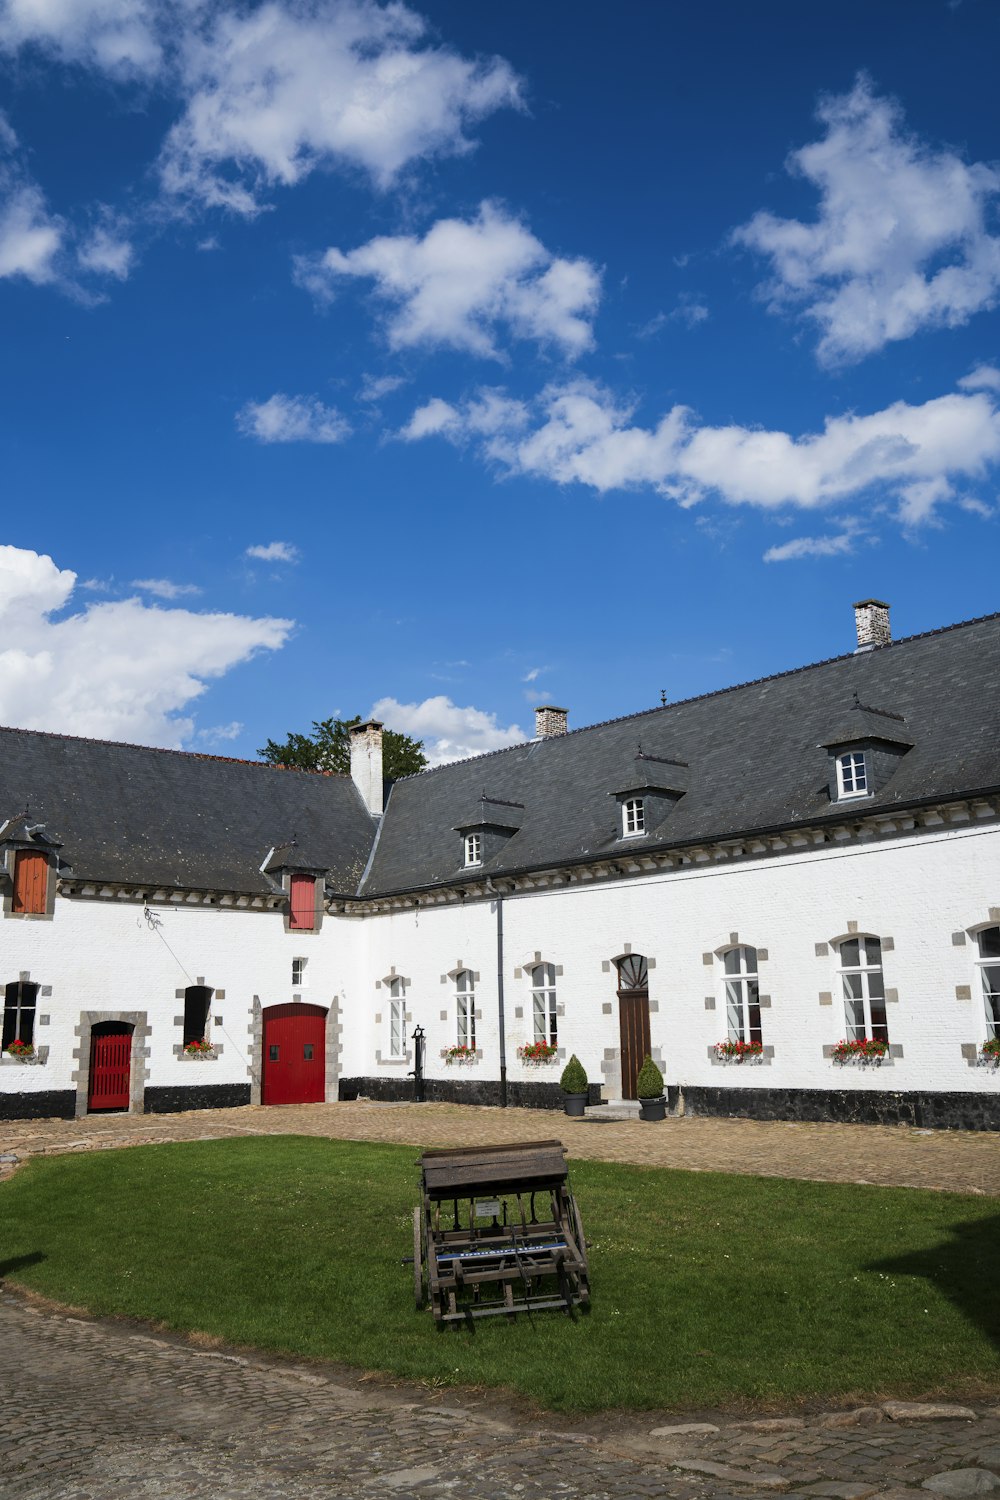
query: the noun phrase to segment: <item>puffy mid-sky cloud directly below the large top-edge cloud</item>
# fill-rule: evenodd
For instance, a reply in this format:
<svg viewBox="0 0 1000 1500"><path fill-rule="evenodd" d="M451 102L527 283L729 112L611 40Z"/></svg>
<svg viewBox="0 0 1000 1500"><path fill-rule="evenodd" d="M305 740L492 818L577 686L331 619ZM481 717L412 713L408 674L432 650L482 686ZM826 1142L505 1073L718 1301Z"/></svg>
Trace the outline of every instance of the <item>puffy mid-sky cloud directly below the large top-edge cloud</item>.
<svg viewBox="0 0 1000 1500"><path fill-rule="evenodd" d="M423 240L379 236L355 250L328 249L300 261L297 274L325 296L343 278L373 280L376 297L393 309L385 334L394 350L448 346L496 357L501 327L571 357L594 344L597 267L553 256L495 202L483 202L471 220L439 219Z"/></svg>

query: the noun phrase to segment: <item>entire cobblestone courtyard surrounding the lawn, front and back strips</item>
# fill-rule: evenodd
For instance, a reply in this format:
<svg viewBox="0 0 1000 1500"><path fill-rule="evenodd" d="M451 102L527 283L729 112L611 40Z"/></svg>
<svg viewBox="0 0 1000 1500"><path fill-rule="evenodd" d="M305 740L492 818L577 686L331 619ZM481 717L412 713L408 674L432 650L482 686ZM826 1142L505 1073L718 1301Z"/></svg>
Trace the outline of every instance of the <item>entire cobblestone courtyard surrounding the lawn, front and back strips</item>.
<svg viewBox="0 0 1000 1500"><path fill-rule="evenodd" d="M454 1144L559 1136L573 1156L870 1180L1000 1196L991 1136L684 1119L568 1120L456 1106L303 1106L0 1124L0 1155L252 1134ZM12 1170L15 1162L0 1166ZM1 1212L1 1198L0 1198ZM0 1275L3 1268L0 1264ZM3 1500L826 1500L997 1488L1000 1407L906 1407L736 1422L732 1414L525 1416L322 1365L198 1347L0 1294ZM934 1476L948 1474L946 1479Z"/></svg>

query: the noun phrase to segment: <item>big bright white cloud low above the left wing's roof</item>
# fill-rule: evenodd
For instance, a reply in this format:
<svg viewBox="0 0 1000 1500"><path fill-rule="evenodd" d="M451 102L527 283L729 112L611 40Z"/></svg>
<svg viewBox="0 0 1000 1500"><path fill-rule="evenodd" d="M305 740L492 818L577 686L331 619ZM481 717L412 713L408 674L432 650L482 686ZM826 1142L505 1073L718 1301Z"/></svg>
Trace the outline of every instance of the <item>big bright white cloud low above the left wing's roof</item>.
<svg viewBox="0 0 1000 1500"><path fill-rule="evenodd" d="M285 644L292 621L162 609L124 598L70 604L76 574L0 546L0 723L180 747L180 711L210 678Z"/></svg>

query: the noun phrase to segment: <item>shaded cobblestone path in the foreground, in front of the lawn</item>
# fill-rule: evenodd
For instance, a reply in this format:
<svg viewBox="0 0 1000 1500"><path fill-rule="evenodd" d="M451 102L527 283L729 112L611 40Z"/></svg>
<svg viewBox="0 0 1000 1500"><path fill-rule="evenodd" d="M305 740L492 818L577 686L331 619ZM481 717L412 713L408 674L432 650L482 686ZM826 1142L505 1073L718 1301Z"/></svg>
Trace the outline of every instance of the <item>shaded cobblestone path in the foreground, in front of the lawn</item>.
<svg viewBox="0 0 1000 1500"><path fill-rule="evenodd" d="M343 1384L322 1365L198 1350L9 1294L0 1348L3 1500L928 1500L919 1486L933 1474L976 1470L973 1488L952 1491L973 1494L1000 1468L1000 1408L696 1430L646 1418L606 1437L511 1420L489 1398Z"/></svg>

